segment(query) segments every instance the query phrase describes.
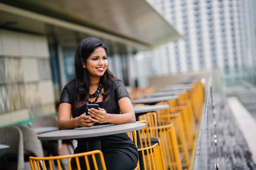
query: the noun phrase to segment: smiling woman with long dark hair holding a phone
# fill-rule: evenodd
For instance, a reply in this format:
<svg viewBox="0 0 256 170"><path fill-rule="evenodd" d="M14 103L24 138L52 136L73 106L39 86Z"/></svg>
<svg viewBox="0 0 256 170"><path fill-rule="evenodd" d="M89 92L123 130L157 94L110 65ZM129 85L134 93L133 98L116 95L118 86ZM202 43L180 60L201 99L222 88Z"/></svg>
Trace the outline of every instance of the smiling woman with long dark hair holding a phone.
<svg viewBox="0 0 256 170"><path fill-rule="evenodd" d="M95 123L135 122L127 89L107 66L107 47L101 40L87 38L79 43L75 52L75 79L66 84L60 96L59 130L90 127ZM90 109L88 115L80 113L86 103L97 103L100 108ZM137 147L126 133L105 137L101 148L108 170L136 167ZM74 153L80 152L87 152L85 140L78 140Z"/></svg>

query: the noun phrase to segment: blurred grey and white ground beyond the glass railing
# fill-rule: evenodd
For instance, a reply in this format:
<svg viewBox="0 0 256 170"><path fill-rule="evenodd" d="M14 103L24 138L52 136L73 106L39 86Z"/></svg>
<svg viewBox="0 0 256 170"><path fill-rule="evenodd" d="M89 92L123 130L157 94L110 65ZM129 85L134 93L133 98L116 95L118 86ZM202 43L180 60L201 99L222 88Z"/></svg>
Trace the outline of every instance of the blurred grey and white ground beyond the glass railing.
<svg viewBox="0 0 256 170"><path fill-rule="evenodd" d="M213 101L219 169L256 169L253 143L256 138L252 139L256 137L253 134L256 130L253 128L254 119L235 97L228 97L225 93L214 94Z"/></svg>

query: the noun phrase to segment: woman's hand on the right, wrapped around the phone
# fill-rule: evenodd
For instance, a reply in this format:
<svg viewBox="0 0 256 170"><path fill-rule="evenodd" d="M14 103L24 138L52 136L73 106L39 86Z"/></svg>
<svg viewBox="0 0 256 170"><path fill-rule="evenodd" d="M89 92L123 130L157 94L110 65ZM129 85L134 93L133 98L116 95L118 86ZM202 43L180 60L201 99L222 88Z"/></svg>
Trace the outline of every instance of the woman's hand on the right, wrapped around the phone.
<svg viewBox="0 0 256 170"><path fill-rule="evenodd" d="M95 123L107 123L107 112L104 108L90 108L88 114L92 116L91 120Z"/></svg>

